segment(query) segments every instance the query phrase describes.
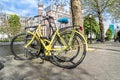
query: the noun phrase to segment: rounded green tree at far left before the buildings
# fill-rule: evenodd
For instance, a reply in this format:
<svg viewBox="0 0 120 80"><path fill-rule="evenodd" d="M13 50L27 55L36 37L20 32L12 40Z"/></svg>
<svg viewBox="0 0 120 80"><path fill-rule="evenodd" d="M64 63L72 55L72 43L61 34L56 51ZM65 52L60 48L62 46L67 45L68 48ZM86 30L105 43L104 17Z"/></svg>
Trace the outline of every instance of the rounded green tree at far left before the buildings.
<svg viewBox="0 0 120 80"><path fill-rule="evenodd" d="M10 15L8 19L11 35L15 35L21 30L20 18L17 15Z"/></svg>

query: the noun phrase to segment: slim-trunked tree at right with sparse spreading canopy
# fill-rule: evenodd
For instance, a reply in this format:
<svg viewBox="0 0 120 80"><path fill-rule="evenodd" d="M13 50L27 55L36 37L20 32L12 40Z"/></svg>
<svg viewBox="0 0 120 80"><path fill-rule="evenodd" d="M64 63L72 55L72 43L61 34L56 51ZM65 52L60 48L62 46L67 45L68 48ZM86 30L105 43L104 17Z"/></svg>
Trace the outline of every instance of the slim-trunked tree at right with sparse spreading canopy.
<svg viewBox="0 0 120 80"><path fill-rule="evenodd" d="M82 0L84 8L95 14L99 20L101 42L105 42L104 39L104 25L103 25L103 13L109 9L109 6L113 6L116 0ZM85 7L86 6L86 7Z"/></svg>

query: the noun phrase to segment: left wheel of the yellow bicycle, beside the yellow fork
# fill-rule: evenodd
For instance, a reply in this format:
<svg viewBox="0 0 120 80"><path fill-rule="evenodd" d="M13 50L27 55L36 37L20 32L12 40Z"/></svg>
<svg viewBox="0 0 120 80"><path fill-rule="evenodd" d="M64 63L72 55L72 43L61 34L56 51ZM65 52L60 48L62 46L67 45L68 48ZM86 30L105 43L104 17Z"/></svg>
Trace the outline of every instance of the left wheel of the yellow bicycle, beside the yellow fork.
<svg viewBox="0 0 120 80"><path fill-rule="evenodd" d="M28 60L35 57L39 53L40 48L36 39L30 44L28 48L25 48L24 45L27 44L32 38L32 35L22 33L16 35L10 44L10 49L15 59L18 60Z"/></svg>

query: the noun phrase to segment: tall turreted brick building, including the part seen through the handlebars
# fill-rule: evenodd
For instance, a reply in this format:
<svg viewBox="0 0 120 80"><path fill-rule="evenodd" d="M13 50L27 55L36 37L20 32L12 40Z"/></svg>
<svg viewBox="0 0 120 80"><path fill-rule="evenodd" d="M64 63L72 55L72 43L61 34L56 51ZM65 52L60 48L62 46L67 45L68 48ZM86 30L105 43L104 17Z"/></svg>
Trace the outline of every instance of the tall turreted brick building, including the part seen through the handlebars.
<svg viewBox="0 0 120 80"><path fill-rule="evenodd" d="M71 21L72 18L71 18L70 11L68 9L65 9L65 7L62 5L51 4L51 5L44 8L42 1L39 0L39 2L38 2L38 15L52 16L54 18L54 22L55 22L55 25L57 28L63 28L63 27L72 25L72 21ZM68 24L59 23L58 22L59 18L67 18L69 21ZM48 36L52 33L52 31L51 31L51 33L49 33L49 32L50 32L49 26L42 27L43 36Z"/></svg>

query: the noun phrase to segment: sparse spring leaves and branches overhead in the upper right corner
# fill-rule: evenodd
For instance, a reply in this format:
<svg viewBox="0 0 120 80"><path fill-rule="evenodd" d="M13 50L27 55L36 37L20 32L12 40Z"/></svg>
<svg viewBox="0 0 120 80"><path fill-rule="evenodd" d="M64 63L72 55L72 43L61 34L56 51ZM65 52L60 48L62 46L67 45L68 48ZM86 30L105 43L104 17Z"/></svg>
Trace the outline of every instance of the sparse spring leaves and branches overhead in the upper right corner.
<svg viewBox="0 0 120 80"><path fill-rule="evenodd" d="M115 20L120 20L120 0L81 0L86 13L109 13Z"/></svg>

